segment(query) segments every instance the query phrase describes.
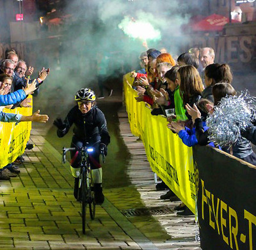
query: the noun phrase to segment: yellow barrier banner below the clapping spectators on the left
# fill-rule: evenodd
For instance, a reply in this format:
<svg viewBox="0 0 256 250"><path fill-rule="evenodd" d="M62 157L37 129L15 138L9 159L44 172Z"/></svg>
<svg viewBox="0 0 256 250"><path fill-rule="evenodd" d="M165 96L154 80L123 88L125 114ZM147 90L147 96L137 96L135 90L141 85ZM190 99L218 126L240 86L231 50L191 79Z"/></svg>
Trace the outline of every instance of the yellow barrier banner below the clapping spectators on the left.
<svg viewBox="0 0 256 250"><path fill-rule="evenodd" d="M32 106L32 101L30 105ZM31 115L32 108L4 108L3 112ZM31 122L19 122L18 124L15 124L15 122L0 122L0 168L12 163L24 153L30 131Z"/></svg>

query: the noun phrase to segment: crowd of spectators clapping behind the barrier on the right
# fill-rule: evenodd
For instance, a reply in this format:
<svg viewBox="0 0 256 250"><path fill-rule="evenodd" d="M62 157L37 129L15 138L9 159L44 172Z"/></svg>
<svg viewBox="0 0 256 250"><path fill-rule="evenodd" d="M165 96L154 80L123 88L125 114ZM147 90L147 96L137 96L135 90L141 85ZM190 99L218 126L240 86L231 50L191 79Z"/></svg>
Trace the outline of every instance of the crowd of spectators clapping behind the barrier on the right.
<svg viewBox="0 0 256 250"><path fill-rule="evenodd" d="M180 54L177 61L172 55L154 48L141 53L139 58L141 68L145 70L131 72L132 87L138 92L136 101L148 103L152 115L166 116L167 127L188 147L196 144L215 147L209 140L205 120L221 98L236 95L230 66L215 63L214 50L210 47L191 48ZM221 150L256 165L256 154L251 145L251 142L255 143L255 131L256 127L241 131L242 136L236 143ZM156 189L169 187L162 181ZM160 198L179 200L172 190ZM193 215L184 203L175 209L180 210L177 212L180 216Z"/></svg>

